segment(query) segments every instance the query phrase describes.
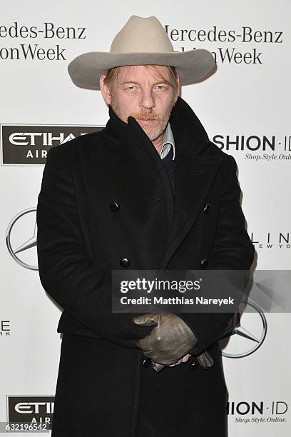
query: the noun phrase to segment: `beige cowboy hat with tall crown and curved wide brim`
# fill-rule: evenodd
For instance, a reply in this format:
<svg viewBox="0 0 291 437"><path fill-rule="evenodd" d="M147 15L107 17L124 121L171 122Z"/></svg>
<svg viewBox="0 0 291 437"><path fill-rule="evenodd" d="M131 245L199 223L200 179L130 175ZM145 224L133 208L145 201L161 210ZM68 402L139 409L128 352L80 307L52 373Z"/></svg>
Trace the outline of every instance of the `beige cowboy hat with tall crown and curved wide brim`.
<svg viewBox="0 0 291 437"><path fill-rule="evenodd" d="M68 74L75 85L100 90L100 76L109 69L147 64L175 67L181 85L206 79L215 70L210 51L173 51L165 29L155 16L133 15L113 39L109 52L88 51L77 56L68 64Z"/></svg>

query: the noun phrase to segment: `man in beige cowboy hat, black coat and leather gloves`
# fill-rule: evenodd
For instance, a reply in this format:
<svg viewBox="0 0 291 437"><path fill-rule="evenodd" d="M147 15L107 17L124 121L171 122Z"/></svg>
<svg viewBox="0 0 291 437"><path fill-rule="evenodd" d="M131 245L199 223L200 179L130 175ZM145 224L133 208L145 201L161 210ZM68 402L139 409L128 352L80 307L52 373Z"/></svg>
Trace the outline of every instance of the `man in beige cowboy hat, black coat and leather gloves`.
<svg viewBox="0 0 291 437"><path fill-rule="evenodd" d="M231 314L111 311L113 269L250 268L235 160L178 96L213 68L137 16L110 53L68 66L110 119L51 149L39 194L41 283L64 309L53 437L225 436L218 340Z"/></svg>

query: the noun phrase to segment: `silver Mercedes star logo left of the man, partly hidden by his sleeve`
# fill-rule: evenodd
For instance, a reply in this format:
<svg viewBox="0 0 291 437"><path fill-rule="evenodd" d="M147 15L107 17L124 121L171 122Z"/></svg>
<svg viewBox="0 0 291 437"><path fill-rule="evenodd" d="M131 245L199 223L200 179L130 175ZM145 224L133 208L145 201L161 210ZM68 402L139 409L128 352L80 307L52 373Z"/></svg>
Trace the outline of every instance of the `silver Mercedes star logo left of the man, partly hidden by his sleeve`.
<svg viewBox="0 0 291 437"><path fill-rule="evenodd" d="M25 235L29 238L24 238ZM6 245L12 258L20 266L30 270L39 269L35 250L36 208L24 209L12 218L6 231Z"/></svg>

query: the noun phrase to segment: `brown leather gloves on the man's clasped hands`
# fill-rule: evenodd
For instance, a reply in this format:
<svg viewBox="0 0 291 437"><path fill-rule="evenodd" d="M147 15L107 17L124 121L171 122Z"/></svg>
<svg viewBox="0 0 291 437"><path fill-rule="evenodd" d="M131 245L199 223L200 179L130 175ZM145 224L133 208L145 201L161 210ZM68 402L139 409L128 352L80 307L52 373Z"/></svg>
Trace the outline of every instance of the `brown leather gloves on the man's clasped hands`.
<svg viewBox="0 0 291 437"><path fill-rule="evenodd" d="M144 356L152 359L153 368L157 372L176 363L198 341L187 323L174 313L142 314L134 317L133 323L139 326L155 326L148 336L138 339L136 345L141 348ZM207 351L196 358L205 369L213 366L213 358Z"/></svg>

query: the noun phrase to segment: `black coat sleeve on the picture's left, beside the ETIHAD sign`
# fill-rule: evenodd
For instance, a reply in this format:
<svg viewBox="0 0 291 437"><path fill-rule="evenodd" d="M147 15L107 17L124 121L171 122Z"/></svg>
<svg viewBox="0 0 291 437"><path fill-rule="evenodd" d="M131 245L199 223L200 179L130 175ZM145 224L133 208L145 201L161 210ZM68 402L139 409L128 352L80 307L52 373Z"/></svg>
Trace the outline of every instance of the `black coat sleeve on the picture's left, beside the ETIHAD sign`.
<svg viewBox="0 0 291 437"><path fill-rule="evenodd" d="M136 326L132 313L112 313L111 274L88 257L78 218L73 178L61 146L49 151L36 222L41 284L58 305L96 336L135 346L151 328Z"/></svg>

